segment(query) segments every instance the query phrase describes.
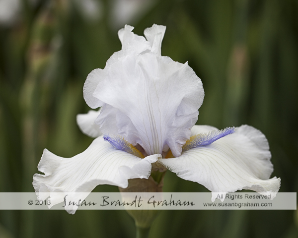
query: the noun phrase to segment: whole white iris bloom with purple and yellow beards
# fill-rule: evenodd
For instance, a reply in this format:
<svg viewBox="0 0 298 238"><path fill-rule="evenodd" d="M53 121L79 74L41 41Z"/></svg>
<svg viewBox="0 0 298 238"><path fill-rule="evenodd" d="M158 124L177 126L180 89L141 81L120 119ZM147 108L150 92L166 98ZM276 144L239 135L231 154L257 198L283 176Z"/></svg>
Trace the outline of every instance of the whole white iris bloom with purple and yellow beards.
<svg viewBox="0 0 298 238"><path fill-rule="evenodd" d="M204 98L201 79L187 63L161 56L165 26L147 28L146 38L132 30L119 30L122 50L84 84L86 103L101 108L78 115L77 123L96 139L73 158L44 150L38 165L44 175L33 178L40 198L58 191L89 193L99 184L126 188L128 179L148 179L152 163L204 185L213 200L241 189L276 193L280 179L270 179L266 137L248 125L194 125ZM51 205L62 201L51 195Z"/></svg>

